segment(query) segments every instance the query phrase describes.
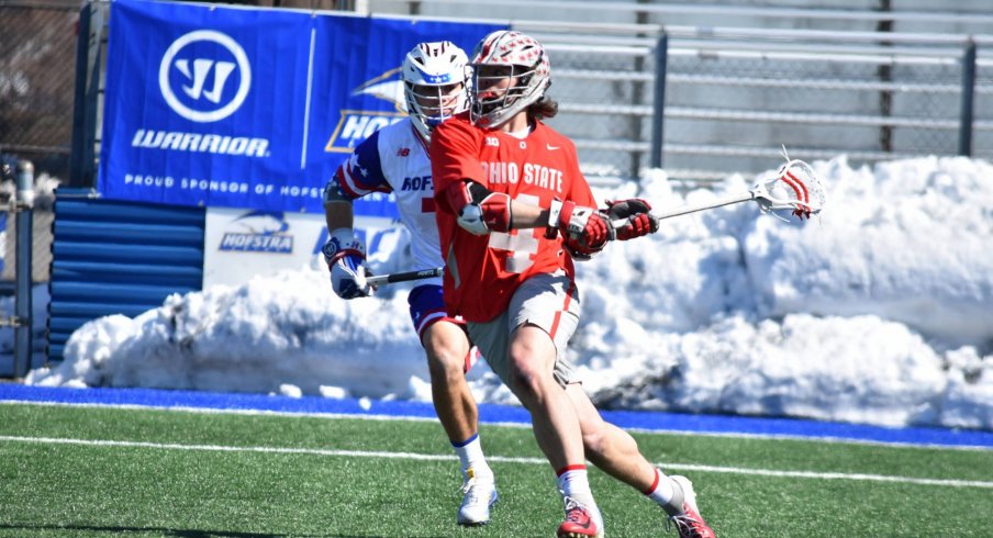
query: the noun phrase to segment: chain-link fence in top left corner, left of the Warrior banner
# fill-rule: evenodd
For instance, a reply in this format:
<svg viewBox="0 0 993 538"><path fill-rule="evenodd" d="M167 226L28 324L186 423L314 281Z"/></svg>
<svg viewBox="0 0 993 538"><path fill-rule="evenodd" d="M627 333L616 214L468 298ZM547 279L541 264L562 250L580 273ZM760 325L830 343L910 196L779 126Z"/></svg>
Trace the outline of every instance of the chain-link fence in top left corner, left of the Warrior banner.
<svg viewBox="0 0 993 538"><path fill-rule="evenodd" d="M66 178L79 2L0 2L0 153Z"/></svg>

